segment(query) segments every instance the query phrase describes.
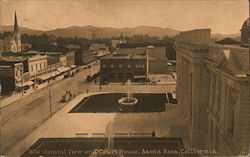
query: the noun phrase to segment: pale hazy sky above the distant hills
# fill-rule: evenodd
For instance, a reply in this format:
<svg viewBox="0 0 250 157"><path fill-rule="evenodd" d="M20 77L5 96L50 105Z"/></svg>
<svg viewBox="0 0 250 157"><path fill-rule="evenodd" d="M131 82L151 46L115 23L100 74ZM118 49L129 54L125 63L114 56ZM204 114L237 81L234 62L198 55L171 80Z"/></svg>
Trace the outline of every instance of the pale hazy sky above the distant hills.
<svg viewBox="0 0 250 157"><path fill-rule="evenodd" d="M248 0L0 0L0 25L52 30L69 26L159 26L186 31L239 33Z"/></svg>

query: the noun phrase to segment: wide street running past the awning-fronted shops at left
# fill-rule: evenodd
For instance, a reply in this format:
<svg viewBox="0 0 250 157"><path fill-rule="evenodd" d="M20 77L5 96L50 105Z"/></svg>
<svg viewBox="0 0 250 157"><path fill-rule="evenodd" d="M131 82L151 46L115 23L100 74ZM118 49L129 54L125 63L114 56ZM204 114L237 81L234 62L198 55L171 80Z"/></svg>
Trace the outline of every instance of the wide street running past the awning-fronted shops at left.
<svg viewBox="0 0 250 157"><path fill-rule="evenodd" d="M92 73L98 70L99 65L91 68ZM49 90L51 91L52 112L54 113L65 105L65 103L60 103L60 100L66 90L75 93L86 91L85 79L88 73L88 69L82 69L74 77L63 79L1 108L0 150L2 153L10 149L50 117Z"/></svg>

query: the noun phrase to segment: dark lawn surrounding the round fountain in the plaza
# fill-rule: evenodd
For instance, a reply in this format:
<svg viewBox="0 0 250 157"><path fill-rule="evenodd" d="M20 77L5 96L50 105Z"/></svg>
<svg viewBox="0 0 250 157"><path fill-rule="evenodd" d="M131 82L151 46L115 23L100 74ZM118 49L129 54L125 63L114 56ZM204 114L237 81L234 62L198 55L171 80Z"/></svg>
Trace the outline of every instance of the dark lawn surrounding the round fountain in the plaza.
<svg viewBox="0 0 250 157"><path fill-rule="evenodd" d="M167 98L165 93L134 93L138 99L136 105L122 105L118 103L126 93L106 93L85 97L70 113L80 112L163 112Z"/></svg>

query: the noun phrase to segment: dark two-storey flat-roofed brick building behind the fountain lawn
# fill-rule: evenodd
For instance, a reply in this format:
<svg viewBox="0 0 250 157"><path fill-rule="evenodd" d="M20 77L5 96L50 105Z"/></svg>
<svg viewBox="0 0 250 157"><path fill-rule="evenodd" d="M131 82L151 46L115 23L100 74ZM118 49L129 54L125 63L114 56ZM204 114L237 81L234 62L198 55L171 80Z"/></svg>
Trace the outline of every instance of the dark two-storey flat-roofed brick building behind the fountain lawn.
<svg viewBox="0 0 250 157"><path fill-rule="evenodd" d="M110 55L101 58L103 82L145 81L147 77L146 56Z"/></svg>

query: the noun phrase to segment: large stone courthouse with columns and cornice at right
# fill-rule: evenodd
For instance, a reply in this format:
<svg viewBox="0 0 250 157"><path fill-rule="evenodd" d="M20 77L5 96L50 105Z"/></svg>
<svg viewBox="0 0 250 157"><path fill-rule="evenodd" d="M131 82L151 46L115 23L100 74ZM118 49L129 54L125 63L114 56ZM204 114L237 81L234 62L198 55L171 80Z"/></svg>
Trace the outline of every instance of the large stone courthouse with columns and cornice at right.
<svg viewBox="0 0 250 157"><path fill-rule="evenodd" d="M210 29L181 32L177 37L177 99L195 147L212 148L224 155L249 149L247 21L238 45L211 43Z"/></svg>

